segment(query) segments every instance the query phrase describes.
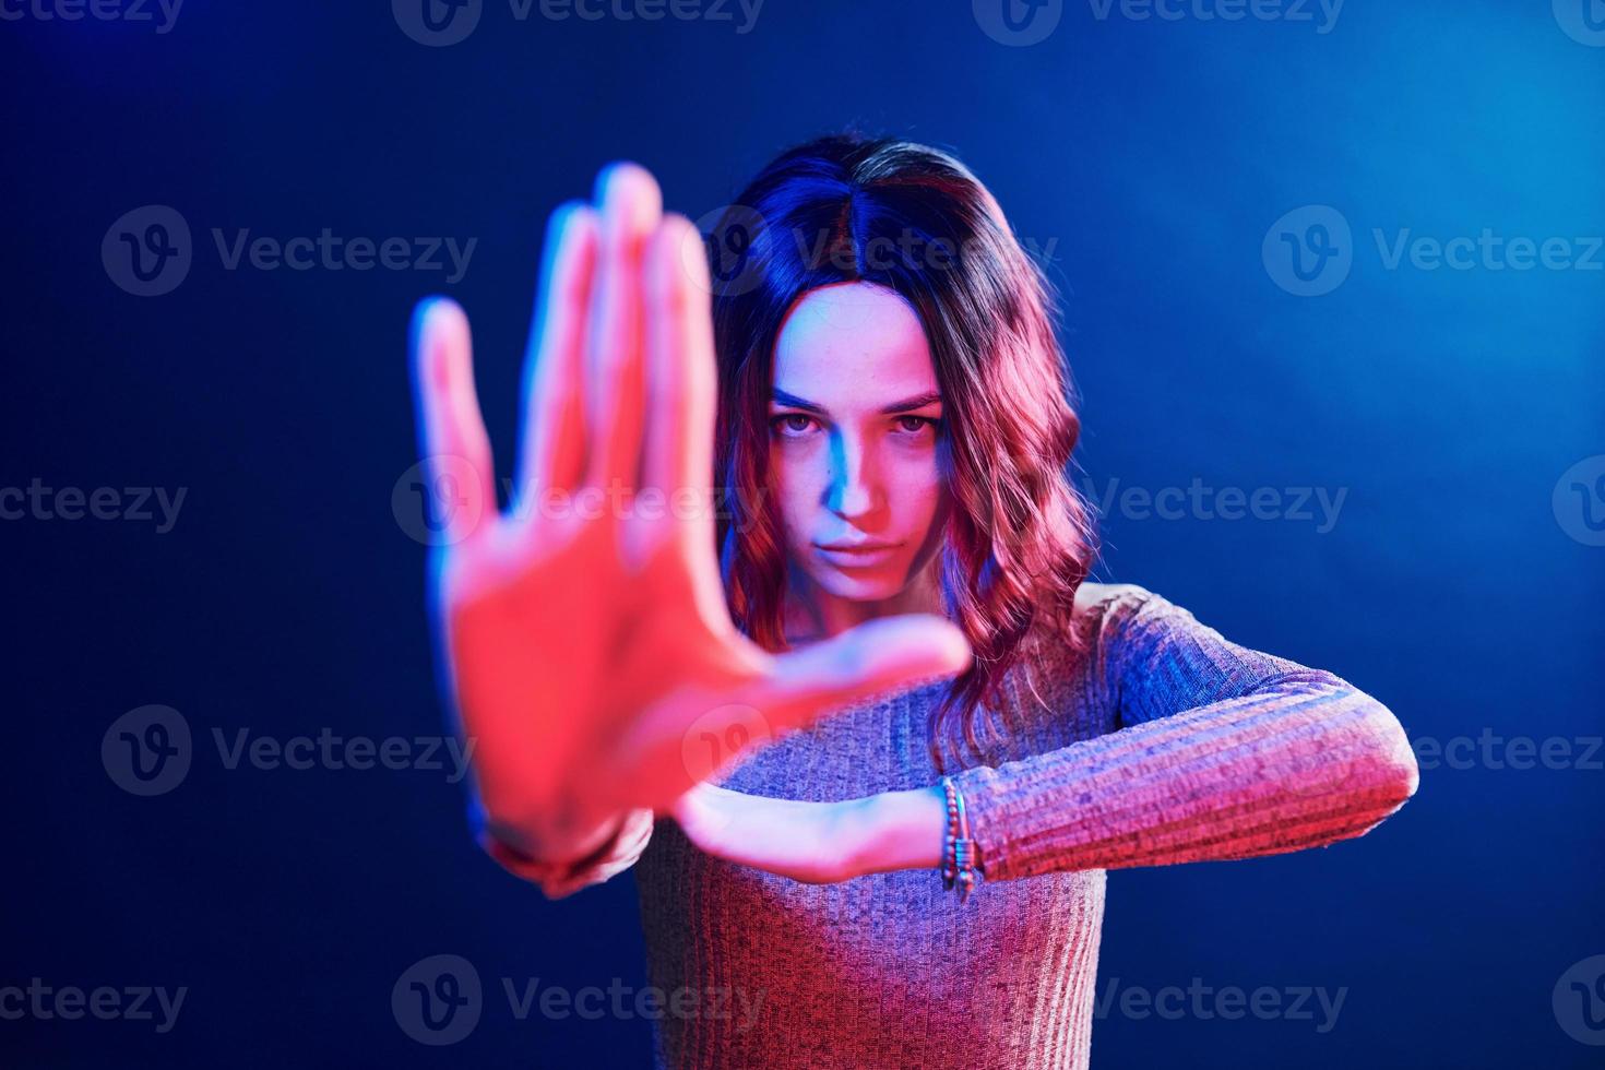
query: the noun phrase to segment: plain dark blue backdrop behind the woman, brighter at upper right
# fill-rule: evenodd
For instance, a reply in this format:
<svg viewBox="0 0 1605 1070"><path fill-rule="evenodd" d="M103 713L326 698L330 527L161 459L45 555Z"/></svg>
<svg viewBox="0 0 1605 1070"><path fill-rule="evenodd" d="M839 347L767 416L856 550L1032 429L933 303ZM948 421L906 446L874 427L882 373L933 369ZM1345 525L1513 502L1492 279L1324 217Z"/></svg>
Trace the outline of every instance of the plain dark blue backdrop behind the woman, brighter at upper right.
<svg viewBox="0 0 1605 1070"><path fill-rule="evenodd" d="M188 488L169 534L0 523L0 985L189 988L167 1035L0 1020L0 1065L648 1060L645 1020L520 1022L498 980L644 985L631 876L547 903L480 855L441 773L226 770L210 736L440 732L424 549L392 510L414 460L408 316L437 290L467 306L510 457L544 220L610 159L697 218L846 124L953 149L1053 242L1095 494L1347 488L1327 533L1117 507L1099 576L1332 669L1412 738L1605 732L1605 549L1552 509L1605 452L1605 273L1387 270L1372 239L1605 234L1605 48L1547 0L1350 0L1327 34L1071 2L1032 47L961 2L769 0L738 34L486 0L446 48L385 3L191 0L169 34L0 21L0 484ZM149 204L188 220L194 265L141 298L100 249ZM1262 241L1311 204L1353 226L1353 270L1295 297ZM228 271L210 236L326 226L478 245L446 286ZM141 799L100 743L148 703L181 711L196 759ZM1111 874L1099 996L1194 977L1348 993L1329 1033L1114 1009L1095 1065L1600 1065L1550 996L1605 953L1602 812L1599 768L1424 768L1363 841ZM437 953L488 988L454 1048L390 1011Z"/></svg>

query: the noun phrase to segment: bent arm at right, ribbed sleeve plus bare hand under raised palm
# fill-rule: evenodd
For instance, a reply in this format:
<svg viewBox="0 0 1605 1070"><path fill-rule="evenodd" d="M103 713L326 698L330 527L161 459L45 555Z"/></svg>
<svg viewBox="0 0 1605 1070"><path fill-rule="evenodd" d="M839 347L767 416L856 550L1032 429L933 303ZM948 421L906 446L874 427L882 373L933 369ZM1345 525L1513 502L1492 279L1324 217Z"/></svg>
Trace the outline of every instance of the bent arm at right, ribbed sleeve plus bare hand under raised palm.
<svg viewBox="0 0 1605 1070"><path fill-rule="evenodd" d="M953 773L985 881L1318 847L1416 794L1404 728L1371 695L1143 587L1106 602L1093 690L1119 728ZM934 869L947 820L936 786L782 802L705 784L679 817L703 850L809 882Z"/></svg>

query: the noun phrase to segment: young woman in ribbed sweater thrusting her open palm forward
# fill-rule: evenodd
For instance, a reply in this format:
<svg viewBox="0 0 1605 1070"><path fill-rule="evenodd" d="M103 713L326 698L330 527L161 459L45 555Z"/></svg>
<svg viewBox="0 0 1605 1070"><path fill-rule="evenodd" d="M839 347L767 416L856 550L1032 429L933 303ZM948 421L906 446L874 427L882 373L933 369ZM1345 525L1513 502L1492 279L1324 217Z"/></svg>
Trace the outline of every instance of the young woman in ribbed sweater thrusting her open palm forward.
<svg viewBox="0 0 1605 1070"><path fill-rule="evenodd" d="M957 159L814 141L714 237L628 164L559 209L506 513L467 321L414 319L480 841L636 866L660 1065L1085 1067L1104 871L1359 836L1404 732L1087 582L1048 290Z"/></svg>

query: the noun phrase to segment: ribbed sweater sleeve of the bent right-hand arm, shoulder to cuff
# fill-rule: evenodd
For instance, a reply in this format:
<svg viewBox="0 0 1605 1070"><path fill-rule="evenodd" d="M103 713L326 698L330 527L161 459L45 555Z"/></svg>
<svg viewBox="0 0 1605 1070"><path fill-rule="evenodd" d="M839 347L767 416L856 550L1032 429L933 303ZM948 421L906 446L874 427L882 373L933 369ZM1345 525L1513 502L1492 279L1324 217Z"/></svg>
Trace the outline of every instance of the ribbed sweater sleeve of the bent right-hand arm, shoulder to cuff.
<svg viewBox="0 0 1605 1070"><path fill-rule="evenodd" d="M1409 741L1375 698L1143 587L1111 592L1083 687L1117 730L953 776L985 881L1324 845L1416 792ZM1054 655L1050 672L1069 663Z"/></svg>

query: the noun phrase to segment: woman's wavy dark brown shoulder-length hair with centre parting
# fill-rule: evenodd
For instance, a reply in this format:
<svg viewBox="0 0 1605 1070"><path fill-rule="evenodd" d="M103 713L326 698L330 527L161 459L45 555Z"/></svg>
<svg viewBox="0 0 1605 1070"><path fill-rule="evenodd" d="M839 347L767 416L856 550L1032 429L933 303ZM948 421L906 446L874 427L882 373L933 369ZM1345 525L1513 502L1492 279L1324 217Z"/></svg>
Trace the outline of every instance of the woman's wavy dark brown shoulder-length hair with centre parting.
<svg viewBox="0 0 1605 1070"><path fill-rule="evenodd" d="M766 650L788 646L783 521L769 481L782 322L817 287L884 286L918 313L942 391L941 459L955 509L941 587L949 619L974 650L933 711L931 757L947 768L941 740L955 715L979 754L977 711L998 703L1027 637L1043 629L1085 648L1071 618L1098 555L1096 528L1067 472L1080 420L1053 332L1051 286L992 193L953 156L855 133L782 152L724 210L708 242L719 353L717 537L732 619ZM904 255L875 255L891 247Z"/></svg>

